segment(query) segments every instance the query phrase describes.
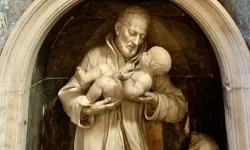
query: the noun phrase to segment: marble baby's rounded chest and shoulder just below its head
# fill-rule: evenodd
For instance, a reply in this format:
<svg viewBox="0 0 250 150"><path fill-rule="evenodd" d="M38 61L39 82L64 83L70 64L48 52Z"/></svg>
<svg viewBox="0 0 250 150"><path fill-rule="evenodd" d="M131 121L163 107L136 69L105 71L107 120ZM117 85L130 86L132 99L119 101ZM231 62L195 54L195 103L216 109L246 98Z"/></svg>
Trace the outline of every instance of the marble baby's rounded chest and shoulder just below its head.
<svg viewBox="0 0 250 150"><path fill-rule="evenodd" d="M152 79L145 74L132 75L122 82L123 92L128 99L134 99L148 91L152 86Z"/></svg>

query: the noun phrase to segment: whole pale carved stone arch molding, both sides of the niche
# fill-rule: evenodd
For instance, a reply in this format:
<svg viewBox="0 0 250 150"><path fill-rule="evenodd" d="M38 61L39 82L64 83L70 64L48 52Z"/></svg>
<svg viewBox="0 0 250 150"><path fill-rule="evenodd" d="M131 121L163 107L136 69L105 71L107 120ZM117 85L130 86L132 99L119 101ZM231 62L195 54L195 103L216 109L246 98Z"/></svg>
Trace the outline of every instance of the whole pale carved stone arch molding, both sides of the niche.
<svg viewBox="0 0 250 150"><path fill-rule="evenodd" d="M250 149L250 54L216 0L171 0L201 26L222 75L229 149ZM13 28L0 56L0 149L25 149L29 88L40 46L51 27L79 0L35 0Z"/></svg>

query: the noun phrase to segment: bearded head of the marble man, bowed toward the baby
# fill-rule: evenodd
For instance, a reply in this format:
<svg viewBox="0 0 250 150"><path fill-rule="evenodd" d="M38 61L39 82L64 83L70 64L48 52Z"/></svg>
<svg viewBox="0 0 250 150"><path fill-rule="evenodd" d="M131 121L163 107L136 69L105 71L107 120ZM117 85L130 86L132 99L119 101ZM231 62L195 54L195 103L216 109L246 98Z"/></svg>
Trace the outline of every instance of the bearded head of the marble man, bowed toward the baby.
<svg viewBox="0 0 250 150"><path fill-rule="evenodd" d="M151 23L149 12L138 6L126 8L115 24L115 43L125 58L135 55L144 42Z"/></svg>

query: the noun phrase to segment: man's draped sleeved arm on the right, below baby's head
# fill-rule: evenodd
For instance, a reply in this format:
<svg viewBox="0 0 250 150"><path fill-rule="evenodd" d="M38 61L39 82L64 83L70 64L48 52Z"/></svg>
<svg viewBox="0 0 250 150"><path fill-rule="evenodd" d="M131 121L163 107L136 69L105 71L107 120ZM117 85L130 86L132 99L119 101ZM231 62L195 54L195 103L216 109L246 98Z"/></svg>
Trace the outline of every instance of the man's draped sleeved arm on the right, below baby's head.
<svg viewBox="0 0 250 150"><path fill-rule="evenodd" d="M157 94L159 101L155 110L146 104L145 117L147 120L177 123L183 119L187 112L185 98L167 75L156 77L153 80L152 90Z"/></svg>

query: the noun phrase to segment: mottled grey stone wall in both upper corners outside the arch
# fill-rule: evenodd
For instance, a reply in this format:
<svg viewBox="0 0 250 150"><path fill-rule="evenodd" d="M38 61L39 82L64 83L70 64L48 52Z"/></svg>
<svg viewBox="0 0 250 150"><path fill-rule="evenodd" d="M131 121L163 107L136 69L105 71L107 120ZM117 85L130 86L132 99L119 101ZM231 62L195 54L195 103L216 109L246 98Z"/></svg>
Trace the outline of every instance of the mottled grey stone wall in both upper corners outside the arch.
<svg viewBox="0 0 250 150"><path fill-rule="evenodd" d="M34 0L0 1L0 54L8 35L22 13ZM248 47L250 46L250 1L219 0L240 28Z"/></svg>

